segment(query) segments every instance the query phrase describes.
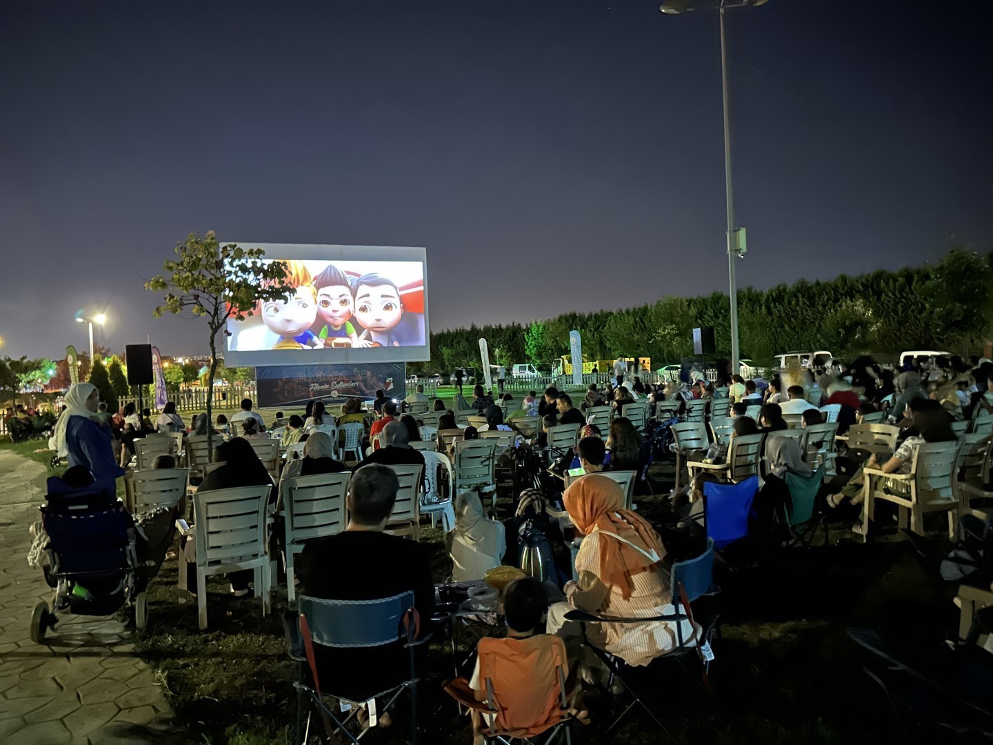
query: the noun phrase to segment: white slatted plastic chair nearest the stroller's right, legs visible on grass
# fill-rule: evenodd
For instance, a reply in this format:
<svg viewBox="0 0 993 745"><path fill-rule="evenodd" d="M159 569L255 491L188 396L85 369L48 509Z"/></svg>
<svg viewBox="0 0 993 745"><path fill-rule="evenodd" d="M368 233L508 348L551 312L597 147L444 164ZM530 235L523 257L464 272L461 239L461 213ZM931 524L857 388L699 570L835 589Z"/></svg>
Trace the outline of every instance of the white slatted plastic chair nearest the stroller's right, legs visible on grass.
<svg viewBox="0 0 993 745"><path fill-rule="evenodd" d="M194 495L196 524L179 525L188 540L180 555L180 588L187 588L188 561L195 561L200 629L207 629L207 578L243 569L255 572L255 595L262 615L269 614L271 577L266 553L266 502L269 487L241 487ZM190 556L189 546L195 556Z"/></svg>

